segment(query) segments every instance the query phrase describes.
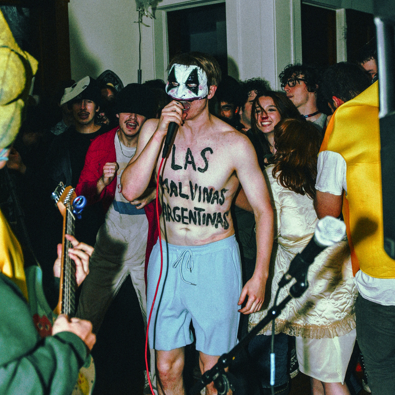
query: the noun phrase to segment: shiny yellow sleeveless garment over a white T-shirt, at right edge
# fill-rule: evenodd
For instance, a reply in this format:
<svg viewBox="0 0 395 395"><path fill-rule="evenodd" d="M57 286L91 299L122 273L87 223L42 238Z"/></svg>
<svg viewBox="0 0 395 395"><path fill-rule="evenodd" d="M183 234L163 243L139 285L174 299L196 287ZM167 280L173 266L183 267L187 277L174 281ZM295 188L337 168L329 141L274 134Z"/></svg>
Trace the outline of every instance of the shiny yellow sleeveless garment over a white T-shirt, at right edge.
<svg viewBox="0 0 395 395"><path fill-rule="evenodd" d="M333 114L321 151L338 152L347 165L342 213L353 273L395 278L395 260L384 250L378 82ZM392 182L392 180L386 180Z"/></svg>

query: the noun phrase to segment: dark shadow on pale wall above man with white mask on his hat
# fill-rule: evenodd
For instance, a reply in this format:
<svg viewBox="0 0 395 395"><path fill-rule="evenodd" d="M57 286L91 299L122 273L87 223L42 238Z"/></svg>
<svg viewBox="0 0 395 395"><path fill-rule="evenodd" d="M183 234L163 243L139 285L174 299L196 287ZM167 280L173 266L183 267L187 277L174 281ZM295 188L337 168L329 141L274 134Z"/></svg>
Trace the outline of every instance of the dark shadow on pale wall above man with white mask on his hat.
<svg viewBox="0 0 395 395"><path fill-rule="evenodd" d="M89 75L98 77L101 70L100 60L88 49L78 22L72 12L69 14L70 24L70 60L71 77L75 81Z"/></svg>

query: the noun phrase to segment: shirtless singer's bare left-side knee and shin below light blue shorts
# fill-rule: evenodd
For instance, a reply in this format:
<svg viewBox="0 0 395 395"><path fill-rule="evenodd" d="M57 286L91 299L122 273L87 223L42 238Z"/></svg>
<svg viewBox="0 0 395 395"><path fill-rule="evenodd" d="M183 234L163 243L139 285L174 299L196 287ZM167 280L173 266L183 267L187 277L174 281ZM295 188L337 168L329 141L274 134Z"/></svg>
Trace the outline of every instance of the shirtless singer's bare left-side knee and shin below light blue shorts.
<svg viewBox="0 0 395 395"><path fill-rule="evenodd" d="M160 395L184 395L185 388L182 380L184 347L170 351L155 350L155 355L158 393Z"/></svg>

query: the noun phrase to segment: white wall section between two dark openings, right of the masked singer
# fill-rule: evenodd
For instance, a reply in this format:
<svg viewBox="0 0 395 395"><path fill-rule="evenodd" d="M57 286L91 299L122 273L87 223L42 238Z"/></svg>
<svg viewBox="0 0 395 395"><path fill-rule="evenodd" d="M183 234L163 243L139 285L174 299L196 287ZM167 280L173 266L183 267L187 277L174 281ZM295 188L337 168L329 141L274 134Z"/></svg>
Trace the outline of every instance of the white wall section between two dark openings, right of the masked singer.
<svg viewBox="0 0 395 395"><path fill-rule="evenodd" d="M228 56L241 80L263 77L278 89L278 75L301 61L299 0L227 0Z"/></svg>

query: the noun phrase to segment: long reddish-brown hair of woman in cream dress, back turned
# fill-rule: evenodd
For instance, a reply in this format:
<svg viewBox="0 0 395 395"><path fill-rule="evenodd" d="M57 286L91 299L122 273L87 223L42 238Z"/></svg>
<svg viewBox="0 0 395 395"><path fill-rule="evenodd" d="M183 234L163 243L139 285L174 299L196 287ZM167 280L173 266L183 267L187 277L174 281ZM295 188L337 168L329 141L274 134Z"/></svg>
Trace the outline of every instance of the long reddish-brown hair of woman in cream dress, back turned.
<svg viewBox="0 0 395 395"><path fill-rule="evenodd" d="M284 188L314 198L317 178L317 156L322 136L311 123L285 119L274 128L276 153L272 175Z"/></svg>

